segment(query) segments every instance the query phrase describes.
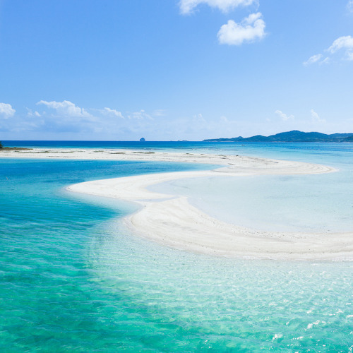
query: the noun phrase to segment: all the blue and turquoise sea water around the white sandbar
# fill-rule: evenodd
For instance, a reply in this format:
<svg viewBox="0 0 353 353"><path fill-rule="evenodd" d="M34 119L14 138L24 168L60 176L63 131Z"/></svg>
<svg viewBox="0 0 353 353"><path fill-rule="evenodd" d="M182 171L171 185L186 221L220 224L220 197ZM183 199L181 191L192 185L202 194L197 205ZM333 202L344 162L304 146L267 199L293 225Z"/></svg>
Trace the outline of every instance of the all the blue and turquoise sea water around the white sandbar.
<svg viewBox="0 0 353 353"><path fill-rule="evenodd" d="M327 164L308 176L154 186L246 227L353 227L353 144L5 141L152 148ZM80 181L209 169L166 162L0 159L1 352L352 352L353 263L217 258L140 239L136 205L65 190ZM254 217L254 215L256 217Z"/></svg>

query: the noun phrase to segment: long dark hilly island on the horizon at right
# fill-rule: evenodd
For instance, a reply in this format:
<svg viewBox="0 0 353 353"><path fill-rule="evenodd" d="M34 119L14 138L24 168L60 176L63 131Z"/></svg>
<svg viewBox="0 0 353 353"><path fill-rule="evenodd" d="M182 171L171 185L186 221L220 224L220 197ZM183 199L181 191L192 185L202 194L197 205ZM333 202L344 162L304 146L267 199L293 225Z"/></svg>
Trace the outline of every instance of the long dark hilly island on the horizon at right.
<svg viewBox="0 0 353 353"><path fill-rule="evenodd" d="M210 138L204 142L353 142L353 133L325 133L293 130L275 135L263 136L256 135L251 137L233 137L233 138Z"/></svg>

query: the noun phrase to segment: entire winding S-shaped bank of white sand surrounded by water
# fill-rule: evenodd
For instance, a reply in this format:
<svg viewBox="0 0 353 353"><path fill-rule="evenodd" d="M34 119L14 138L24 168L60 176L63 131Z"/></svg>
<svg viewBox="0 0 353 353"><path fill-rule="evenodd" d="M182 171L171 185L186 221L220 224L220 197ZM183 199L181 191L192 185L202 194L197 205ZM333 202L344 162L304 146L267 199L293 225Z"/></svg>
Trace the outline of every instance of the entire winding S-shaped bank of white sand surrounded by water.
<svg viewBox="0 0 353 353"><path fill-rule="evenodd" d="M273 258L287 260L353 261L353 232L313 234L302 232L263 232L229 225L216 220L189 204L185 197L154 193L146 189L181 178L217 177L217 175L318 174L335 169L301 162L265 160L262 158L201 155L186 153L104 150L52 150L42 153L1 152L0 157L65 157L104 160L158 160L202 162L227 167L213 171L148 174L135 177L88 181L69 186L68 190L97 196L135 201L140 210L126 217L133 232L184 251L215 256Z"/></svg>

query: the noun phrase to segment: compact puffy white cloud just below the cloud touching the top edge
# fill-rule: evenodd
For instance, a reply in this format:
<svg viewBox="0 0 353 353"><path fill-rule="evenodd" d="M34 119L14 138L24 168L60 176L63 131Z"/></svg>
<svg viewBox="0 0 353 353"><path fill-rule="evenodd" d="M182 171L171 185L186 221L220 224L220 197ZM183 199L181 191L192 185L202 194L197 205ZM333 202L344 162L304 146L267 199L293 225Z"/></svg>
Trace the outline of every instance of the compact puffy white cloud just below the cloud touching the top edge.
<svg viewBox="0 0 353 353"><path fill-rule="evenodd" d="M243 42L252 42L261 40L265 37L265 22L261 18L262 14L251 13L244 18L241 23L235 23L229 20L226 25L222 25L217 34L220 44L240 45Z"/></svg>

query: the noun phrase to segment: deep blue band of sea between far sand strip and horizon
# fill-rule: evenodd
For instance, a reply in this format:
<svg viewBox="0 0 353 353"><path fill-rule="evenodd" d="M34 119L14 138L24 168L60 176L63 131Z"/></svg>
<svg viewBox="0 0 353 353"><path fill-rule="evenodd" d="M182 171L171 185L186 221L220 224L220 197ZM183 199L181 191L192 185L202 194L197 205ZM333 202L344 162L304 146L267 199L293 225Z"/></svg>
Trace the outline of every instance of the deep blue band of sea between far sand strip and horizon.
<svg viewBox="0 0 353 353"><path fill-rule="evenodd" d="M210 143L202 141L18 141L5 140L8 147L25 148L116 148L132 150L166 150L203 153L228 153L257 157L340 162L352 164L353 143Z"/></svg>

